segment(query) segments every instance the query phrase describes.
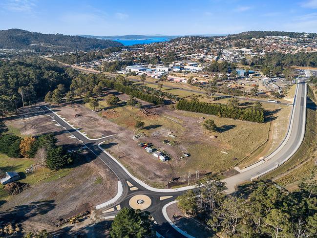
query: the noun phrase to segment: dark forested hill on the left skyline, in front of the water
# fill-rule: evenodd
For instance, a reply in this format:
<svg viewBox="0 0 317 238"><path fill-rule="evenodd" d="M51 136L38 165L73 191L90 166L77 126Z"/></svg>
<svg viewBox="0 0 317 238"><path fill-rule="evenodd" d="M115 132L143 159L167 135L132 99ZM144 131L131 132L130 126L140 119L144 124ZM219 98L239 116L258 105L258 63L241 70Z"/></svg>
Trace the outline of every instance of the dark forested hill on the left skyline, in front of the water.
<svg viewBox="0 0 317 238"><path fill-rule="evenodd" d="M62 34L42 34L21 29L0 31L0 48L31 49L37 52L64 52L75 50L96 50L108 47L123 46L119 42L67 36Z"/></svg>

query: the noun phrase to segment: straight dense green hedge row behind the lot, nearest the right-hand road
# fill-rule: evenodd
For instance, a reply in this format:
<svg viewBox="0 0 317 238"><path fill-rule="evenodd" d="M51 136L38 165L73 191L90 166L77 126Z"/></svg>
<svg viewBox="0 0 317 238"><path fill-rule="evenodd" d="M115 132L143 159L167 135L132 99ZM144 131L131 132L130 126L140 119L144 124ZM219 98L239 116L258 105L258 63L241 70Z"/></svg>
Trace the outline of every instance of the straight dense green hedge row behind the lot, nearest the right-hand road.
<svg viewBox="0 0 317 238"><path fill-rule="evenodd" d="M234 105L211 104L199 101L180 100L176 108L192 112L200 112L218 117L228 117L251 122L264 122L264 110L262 108L238 108Z"/></svg>

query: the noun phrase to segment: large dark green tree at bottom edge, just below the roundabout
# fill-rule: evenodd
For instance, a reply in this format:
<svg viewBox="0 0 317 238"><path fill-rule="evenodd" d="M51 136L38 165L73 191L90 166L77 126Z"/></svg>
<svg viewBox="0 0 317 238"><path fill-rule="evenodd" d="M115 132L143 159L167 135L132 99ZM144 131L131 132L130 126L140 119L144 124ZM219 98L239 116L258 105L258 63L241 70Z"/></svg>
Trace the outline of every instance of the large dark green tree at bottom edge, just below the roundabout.
<svg viewBox="0 0 317 238"><path fill-rule="evenodd" d="M149 213L139 209L121 209L111 224L112 238L147 238L151 235Z"/></svg>

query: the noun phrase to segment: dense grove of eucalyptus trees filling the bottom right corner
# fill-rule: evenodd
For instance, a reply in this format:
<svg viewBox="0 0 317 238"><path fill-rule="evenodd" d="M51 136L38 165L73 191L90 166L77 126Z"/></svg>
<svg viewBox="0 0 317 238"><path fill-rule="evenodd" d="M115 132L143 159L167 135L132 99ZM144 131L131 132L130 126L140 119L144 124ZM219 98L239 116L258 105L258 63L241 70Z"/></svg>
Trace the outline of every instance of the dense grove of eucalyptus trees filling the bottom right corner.
<svg viewBox="0 0 317 238"><path fill-rule="evenodd" d="M244 197L224 195L220 182L208 181L197 192L179 196L178 207L221 237L313 238L317 237L317 182L313 177L292 193L272 183L253 183L246 186L251 192L243 192Z"/></svg>

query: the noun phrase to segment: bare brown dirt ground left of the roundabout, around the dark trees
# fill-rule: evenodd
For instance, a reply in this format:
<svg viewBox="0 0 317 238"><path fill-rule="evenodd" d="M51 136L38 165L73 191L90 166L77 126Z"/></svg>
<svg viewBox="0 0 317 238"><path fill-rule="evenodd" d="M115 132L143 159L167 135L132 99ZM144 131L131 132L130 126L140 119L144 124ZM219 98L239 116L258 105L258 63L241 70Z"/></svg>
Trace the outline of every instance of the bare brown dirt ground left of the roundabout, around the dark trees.
<svg viewBox="0 0 317 238"><path fill-rule="evenodd" d="M35 136L54 132L58 144L67 145L72 149L82 147L77 139L70 139L69 133L63 133L61 127L56 127L55 122L51 122L51 118L48 116L6 121L5 123L19 130L22 135ZM6 163L10 164L13 169L16 168L15 160L15 158L5 158ZM36 161L32 162L32 159L19 159L18 161L21 160L26 160L28 163L21 162L21 166L18 167L19 171L23 171L24 167L29 164L36 164ZM21 182L30 183L31 187L21 194L9 197L8 201L3 201L3 204L0 205L0 219L4 222L21 223L26 229L34 231L60 230L61 228L54 226L59 219L69 218L86 210L94 210L95 205L111 199L117 193L117 177L107 169L101 160L88 151L84 151L83 158L74 161L65 170L56 173L45 169L44 178L42 168L39 168L38 171L35 171L34 177L29 174ZM98 220L98 216L91 216L83 223L71 225L62 233L77 228L82 229L82 226L89 224L89 229L94 229L91 224L96 220Z"/></svg>

